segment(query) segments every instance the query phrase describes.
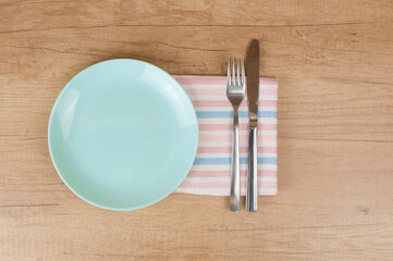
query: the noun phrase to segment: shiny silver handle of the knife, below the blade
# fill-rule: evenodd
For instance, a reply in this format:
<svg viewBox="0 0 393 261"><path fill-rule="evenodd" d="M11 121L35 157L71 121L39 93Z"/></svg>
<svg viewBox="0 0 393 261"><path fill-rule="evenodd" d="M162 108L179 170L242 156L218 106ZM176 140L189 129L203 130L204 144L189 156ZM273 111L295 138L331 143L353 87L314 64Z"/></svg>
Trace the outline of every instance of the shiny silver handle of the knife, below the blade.
<svg viewBox="0 0 393 261"><path fill-rule="evenodd" d="M248 134L248 172L247 172L247 195L246 210L257 211L258 184L257 184L257 127L250 127Z"/></svg>

